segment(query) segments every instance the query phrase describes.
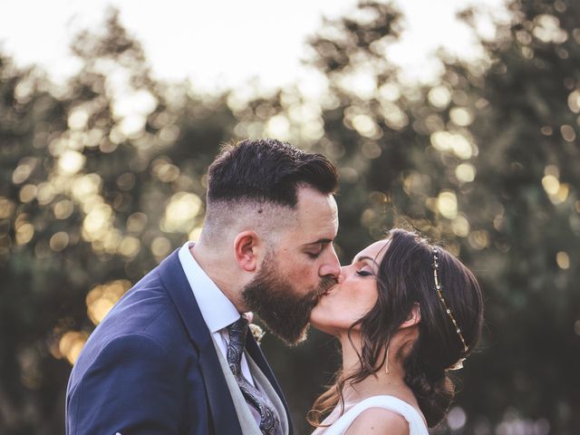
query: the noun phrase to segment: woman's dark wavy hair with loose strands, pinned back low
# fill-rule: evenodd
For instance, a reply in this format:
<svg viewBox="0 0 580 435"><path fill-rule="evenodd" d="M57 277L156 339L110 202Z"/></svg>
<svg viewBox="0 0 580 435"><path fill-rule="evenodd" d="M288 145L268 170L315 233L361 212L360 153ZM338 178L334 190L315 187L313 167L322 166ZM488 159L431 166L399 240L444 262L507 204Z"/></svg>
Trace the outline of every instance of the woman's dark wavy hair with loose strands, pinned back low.
<svg viewBox="0 0 580 435"><path fill-rule="evenodd" d="M454 397L455 386L449 379L449 368L467 357L478 343L483 324L483 298L475 276L455 256L438 247L438 277L445 302L469 346L465 351L435 289L433 246L418 234L400 228L392 229L389 238L391 243L377 275L377 302L348 332L351 339L353 328L360 325L360 367L348 376L337 372L333 385L314 401L307 420L315 427L322 426L322 418L337 405L343 414L342 391L346 383L362 382L381 370L391 336L409 318L414 304L420 306L419 336L406 353L402 366L405 382L414 392L430 428L445 417ZM402 354L396 355L397 359L402 357Z"/></svg>

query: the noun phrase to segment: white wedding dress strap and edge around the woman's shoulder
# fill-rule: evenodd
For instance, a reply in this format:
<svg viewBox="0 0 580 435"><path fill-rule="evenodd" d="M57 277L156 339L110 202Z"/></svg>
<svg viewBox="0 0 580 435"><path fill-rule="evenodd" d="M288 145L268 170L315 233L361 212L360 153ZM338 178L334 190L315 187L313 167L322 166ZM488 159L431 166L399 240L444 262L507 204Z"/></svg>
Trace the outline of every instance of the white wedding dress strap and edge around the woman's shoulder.
<svg viewBox="0 0 580 435"><path fill-rule="evenodd" d="M406 401L401 401L394 396L372 396L360 401L324 430L324 435L343 435L361 412L369 408L382 408L401 414L409 423L409 435L429 435L420 413Z"/></svg>

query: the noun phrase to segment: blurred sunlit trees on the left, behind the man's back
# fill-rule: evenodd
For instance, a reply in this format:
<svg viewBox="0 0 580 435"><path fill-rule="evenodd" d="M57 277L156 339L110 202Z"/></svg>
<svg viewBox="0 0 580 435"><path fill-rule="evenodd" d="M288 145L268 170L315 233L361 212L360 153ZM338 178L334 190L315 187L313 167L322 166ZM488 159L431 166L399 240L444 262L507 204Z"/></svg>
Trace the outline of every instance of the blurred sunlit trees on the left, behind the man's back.
<svg viewBox="0 0 580 435"><path fill-rule="evenodd" d="M114 11L73 53L82 70L60 87L0 58L2 433L63 433L59 360L195 232L236 121L225 97L154 81Z"/></svg>

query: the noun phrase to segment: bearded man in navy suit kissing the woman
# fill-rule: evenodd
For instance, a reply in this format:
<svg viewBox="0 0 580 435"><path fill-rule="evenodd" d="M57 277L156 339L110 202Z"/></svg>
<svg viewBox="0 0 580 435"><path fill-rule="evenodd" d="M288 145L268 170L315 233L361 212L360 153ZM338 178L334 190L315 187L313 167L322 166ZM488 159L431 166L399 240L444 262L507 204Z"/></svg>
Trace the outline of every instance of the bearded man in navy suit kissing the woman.
<svg viewBox="0 0 580 435"><path fill-rule="evenodd" d="M336 169L278 140L243 140L208 169L197 243L121 298L74 365L66 432L292 434L243 313L286 343L340 274Z"/></svg>

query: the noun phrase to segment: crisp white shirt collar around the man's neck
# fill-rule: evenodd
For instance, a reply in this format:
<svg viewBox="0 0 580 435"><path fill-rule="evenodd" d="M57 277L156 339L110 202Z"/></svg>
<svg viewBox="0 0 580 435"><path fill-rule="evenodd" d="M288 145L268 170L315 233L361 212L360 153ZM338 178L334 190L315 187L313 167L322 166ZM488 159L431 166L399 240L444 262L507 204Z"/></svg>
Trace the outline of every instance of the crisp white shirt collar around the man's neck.
<svg viewBox="0 0 580 435"><path fill-rule="evenodd" d="M195 242L186 242L179 249L179 262L188 278L189 286L198 302L199 311L210 333L216 333L239 319L236 306L199 266L189 251Z"/></svg>

